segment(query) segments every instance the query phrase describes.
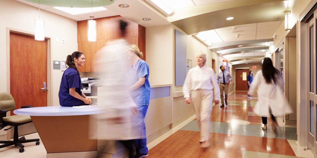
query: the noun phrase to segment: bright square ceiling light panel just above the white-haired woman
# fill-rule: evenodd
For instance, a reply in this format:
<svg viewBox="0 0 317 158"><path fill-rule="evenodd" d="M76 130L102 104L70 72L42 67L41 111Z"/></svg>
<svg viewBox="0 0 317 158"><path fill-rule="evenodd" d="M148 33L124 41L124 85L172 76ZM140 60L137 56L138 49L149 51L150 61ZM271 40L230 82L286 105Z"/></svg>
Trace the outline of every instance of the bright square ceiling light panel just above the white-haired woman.
<svg viewBox="0 0 317 158"><path fill-rule="evenodd" d="M196 37L204 41L208 46L211 46L212 43L223 42L215 30L199 32Z"/></svg>

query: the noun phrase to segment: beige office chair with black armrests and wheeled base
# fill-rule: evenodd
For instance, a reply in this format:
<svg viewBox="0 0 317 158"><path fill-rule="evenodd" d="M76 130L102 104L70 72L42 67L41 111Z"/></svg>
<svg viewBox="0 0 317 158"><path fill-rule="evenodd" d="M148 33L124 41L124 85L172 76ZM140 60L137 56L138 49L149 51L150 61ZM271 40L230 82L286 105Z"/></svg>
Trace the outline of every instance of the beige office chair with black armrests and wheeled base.
<svg viewBox="0 0 317 158"><path fill-rule="evenodd" d="M22 106L22 108L28 108L33 106ZM0 130L3 129L6 126L11 126L10 128L14 127L14 134L13 134L13 141L0 141L1 144L0 148L4 148L7 146L19 146L19 152L23 153L24 151L24 145L22 143L29 143L29 142L36 142L36 145L40 144L40 139L29 139L26 140L25 137L19 138L18 134L18 126L24 125L27 123L32 122L32 119L30 116L24 116L24 115L13 115L13 116L6 116L8 111L15 110L16 109L16 103L12 97L11 94L6 92L0 92ZM5 129L4 131L9 130Z"/></svg>

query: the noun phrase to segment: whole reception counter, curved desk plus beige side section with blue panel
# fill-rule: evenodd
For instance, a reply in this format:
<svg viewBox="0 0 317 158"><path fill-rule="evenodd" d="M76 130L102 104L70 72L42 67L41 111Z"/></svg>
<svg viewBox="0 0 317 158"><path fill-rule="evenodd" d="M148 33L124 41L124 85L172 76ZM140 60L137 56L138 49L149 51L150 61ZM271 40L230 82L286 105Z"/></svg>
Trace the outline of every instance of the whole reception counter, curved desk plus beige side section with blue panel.
<svg viewBox="0 0 317 158"><path fill-rule="evenodd" d="M95 98L98 99L98 98ZM97 106L73 108L62 106L33 107L17 109L17 115L31 116L41 141L47 151L47 158L89 158L96 157L101 140L89 139L96 133L97 126L89 115L102 113ZM96 120L95 120L96 122ZM146 118L146 133L151 140L164 133L172 123L171 85L151 85L150 106ZM124 154L114 141L102 152L118 157ZM100 146L100 145L99 145Z"/></svg>

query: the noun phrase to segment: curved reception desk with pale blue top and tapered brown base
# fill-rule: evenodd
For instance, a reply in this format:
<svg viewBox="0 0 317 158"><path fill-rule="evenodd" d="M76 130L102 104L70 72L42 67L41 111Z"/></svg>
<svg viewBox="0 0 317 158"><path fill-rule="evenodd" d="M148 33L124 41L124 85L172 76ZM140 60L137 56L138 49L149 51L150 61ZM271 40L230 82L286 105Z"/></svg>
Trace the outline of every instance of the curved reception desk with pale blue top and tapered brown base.
<svg viewBox="0 0 317 158"><path fill-rule="evenodd" d="M17 109L14 113L31 116L47 157L96 156L97 140L89 139L89 132L96 131L92 129L96 127L89 125L89 115L101 113L98 107L33 107Z"/></svg>

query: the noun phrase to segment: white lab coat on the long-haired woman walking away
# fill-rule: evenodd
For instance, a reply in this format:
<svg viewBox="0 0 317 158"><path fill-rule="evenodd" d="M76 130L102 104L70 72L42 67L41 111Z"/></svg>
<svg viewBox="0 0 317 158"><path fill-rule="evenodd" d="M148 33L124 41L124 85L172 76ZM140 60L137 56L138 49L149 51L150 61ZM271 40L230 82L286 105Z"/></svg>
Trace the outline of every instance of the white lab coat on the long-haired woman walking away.
<svg viewBox="0 0 317 158"><path fill-rule="evenodd" d="M271 108L274 116L284 116L284 114L293 112L283 93L283 78L277 74L275 77L277 78L276 84L273 80L270 84L267 84L262 70L260 70L251 83L248 94L253 95L257 92L258 101L253 111L259 116L270 117L269 108Z"/></svg>

